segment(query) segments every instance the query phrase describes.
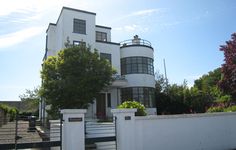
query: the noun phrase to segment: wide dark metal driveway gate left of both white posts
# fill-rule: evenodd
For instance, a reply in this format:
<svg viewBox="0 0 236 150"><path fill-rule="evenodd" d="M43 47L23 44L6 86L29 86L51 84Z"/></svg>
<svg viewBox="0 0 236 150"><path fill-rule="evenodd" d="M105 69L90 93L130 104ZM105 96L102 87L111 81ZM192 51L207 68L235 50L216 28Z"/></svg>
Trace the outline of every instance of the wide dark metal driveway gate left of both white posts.
<svg viewBox="0 0 236 150"><path fill-rule="evenodd" d="M17 116L14 121L0 118L0 149L61 147L62 121L59 128L55 133L27 116Z"/></svg>

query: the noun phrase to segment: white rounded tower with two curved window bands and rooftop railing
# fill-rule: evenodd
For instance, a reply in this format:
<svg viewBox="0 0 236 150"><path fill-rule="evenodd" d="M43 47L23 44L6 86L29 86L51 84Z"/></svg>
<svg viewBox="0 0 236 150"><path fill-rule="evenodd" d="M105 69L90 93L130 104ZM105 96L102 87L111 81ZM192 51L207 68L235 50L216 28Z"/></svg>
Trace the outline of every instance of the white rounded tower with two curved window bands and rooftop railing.
<svg viewBox="0 0 236 150"><path fill-rule="evenodd" d="M133 39L120 44L121 75L128 81L121 88L121 101L138 101L148 108L149 114L155 114L154 50L151 43L135 35Z"/></svg>

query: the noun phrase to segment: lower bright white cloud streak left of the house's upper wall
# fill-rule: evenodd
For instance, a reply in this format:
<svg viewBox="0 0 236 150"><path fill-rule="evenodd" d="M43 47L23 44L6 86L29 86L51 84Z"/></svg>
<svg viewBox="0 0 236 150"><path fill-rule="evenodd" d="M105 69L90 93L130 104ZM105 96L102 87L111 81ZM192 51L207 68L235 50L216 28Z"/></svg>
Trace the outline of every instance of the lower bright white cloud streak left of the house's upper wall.
<svg viewBox="0 0 236 150"><path fill-rule="evenodd" d="M31 27L31 28L14 32L14 33L1 35L0 36L0 49L24 42L28 40L29 38L42 33L44 30L45 30L44 27Z"/></svg>

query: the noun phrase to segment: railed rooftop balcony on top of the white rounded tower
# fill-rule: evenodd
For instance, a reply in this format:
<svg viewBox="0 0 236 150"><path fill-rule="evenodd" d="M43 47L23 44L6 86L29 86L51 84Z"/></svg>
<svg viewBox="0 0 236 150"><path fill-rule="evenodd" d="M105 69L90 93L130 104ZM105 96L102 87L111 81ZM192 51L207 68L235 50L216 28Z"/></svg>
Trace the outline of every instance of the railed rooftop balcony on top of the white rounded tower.
<svg viewBox="0 0 236 150"><path fill-rule="evenodd" d="M137 45L141 45L141 46L147 46L152 48L152 45L149 41L141 39L138 37L138 35L135 35L133 39L130 40L125 40L120 42L120 47L127 47L127 46L137 46Z"/></svg>

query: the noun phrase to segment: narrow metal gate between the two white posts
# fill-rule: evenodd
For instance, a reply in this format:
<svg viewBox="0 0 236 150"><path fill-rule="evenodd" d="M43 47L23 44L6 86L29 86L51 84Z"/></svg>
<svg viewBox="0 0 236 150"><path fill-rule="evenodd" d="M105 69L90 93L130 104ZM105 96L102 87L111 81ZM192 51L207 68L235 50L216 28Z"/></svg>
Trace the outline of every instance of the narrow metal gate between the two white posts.
<svg viewBox="0 0 236 150"><path fill-rule="evenodd" d="M85 147L87 150L116 150L116 118L111 122L85 121Z"/></svg>

